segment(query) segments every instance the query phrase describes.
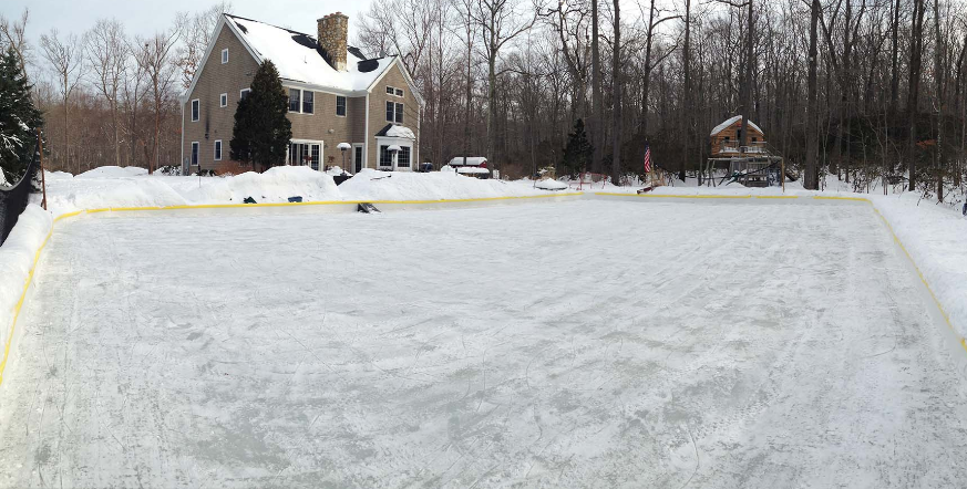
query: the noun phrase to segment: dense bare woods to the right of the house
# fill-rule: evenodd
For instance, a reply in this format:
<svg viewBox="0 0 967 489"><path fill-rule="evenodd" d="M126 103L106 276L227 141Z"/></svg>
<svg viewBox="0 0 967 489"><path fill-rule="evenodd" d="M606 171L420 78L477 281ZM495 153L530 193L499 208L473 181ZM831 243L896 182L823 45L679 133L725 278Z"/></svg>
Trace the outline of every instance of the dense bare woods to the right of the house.
<svg viewBox="0 0 967 489"><path fill-rule="evenodd" d="M373 0L357 43L415 74L432 162L469 150L531 174L559 165L582 118L589 171L640 173L649 142L662 168L696 173L711 128L742 114L800 175L812 156L813 176L861 190L911 168L933 194L963 180L964 0L402 3Z"/></svg>

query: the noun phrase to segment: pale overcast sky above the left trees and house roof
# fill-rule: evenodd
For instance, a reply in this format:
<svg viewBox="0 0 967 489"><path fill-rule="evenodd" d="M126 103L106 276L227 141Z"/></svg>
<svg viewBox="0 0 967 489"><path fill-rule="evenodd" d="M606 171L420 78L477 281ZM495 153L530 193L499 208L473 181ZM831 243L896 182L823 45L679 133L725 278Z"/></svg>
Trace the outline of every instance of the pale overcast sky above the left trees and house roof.
<svg viewBox="0 0 967 489"><path fill-rule="evenodd" d="M28 35L31 41L52 28L83 33L101 18L116 18L128 33L152 34L172 24L178 11L196 12L218 3L215 0L0 0L0 14L19 19L30 8ZM315 33L316 19L336 11L356 17L368 0L232 0L233 13L296 31ZM37 45L37 44L34 44Z"/></svg>

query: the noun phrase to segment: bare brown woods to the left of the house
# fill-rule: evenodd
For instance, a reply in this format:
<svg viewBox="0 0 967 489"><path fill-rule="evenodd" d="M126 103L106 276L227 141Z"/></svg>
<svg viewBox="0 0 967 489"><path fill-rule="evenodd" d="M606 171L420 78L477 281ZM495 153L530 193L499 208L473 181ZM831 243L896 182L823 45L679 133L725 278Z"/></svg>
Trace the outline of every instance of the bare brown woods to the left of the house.
<svg viewBox="0 0 967 489"><path fill-rule="evenodd" d="M228 3L177 13L154 34L113 19L82 33L55 30L31 42L30 12L0 17L0 49L12 48L43 112L45 166L74 174L104 165L181 166L178 94L195 73Z"/></svg>

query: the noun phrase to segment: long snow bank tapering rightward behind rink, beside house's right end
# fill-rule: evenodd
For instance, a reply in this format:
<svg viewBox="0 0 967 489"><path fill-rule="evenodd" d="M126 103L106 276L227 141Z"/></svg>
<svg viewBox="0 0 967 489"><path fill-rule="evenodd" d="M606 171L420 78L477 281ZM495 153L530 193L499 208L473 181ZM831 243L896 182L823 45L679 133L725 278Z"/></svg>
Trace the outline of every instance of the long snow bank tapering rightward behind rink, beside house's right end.
<svg viewBox="0 0 967 489"><path fill-rule="evenodd" d="M363 169L339 187L346 200L441 200L544 195L523 183L481 180L451 171Z"/></svg>

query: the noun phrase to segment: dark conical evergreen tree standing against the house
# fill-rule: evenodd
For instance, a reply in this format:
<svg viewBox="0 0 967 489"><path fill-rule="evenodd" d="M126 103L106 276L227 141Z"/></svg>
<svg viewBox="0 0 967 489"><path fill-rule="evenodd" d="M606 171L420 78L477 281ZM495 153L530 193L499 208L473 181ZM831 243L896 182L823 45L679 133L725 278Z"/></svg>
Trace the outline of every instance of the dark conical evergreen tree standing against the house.
<svg viewBox="0 0 967 489"><path fill-rule="evenodd" d="M232 159L250 163L256 169L281 165L292 138L292 123L286 116L289 97L279 72L266 60L255 72L251 92L238 101L235 131L229 143Z"/></svg>

